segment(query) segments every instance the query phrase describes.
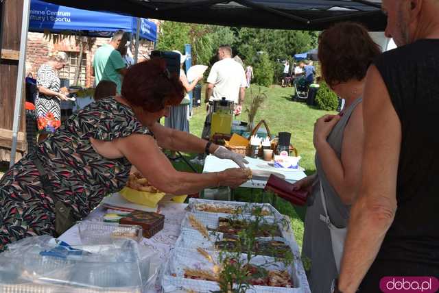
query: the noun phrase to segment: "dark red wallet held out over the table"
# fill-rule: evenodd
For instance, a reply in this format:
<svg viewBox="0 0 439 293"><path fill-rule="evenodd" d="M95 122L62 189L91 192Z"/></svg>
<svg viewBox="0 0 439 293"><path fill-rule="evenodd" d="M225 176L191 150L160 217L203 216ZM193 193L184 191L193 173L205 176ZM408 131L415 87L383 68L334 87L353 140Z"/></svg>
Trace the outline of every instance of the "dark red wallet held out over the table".
<svg viewBox="0 0 439 293"><path fill-rule="evenodd" d="M270 190L294 205L307 203L308 192L306 190L293 190L292 183L274 175L270 175L264 190Z"/></svg>

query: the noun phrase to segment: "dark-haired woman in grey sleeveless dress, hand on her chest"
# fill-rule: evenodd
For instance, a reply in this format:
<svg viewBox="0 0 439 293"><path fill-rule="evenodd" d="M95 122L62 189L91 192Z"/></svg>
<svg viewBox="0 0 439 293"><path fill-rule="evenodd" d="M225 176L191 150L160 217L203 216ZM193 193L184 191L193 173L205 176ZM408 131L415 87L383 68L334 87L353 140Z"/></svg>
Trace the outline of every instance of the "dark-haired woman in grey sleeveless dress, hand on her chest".
<svg viewBox="0 0 439 293"><path fill-rule="evenodd" d="M314 125L316 174L294 184L308 189L302 255L311 261L308 272L311 291L330 292L338 275L331 234L324 216L320 183L329 218L337 228L347 226L349 210L361 180L363 149L362 94L368 66L381 53L367 30L356 23L340 23L322 32L318 56L322 75L346 106L339 115L325 115Z"/></svg>

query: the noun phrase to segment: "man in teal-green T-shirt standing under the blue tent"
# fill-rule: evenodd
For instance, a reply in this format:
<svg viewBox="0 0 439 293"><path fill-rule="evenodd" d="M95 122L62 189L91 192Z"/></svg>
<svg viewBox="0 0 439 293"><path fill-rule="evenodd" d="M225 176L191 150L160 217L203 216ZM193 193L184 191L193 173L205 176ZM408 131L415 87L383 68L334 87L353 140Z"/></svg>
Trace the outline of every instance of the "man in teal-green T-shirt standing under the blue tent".
<svg viewBox="0 0 439 293"><path fill-rule="evenodd" d="M116 31L108 44L96 50L93 59L93 70L95 73L96 85L101 80L113 81L117 85L117 93L121 93L122 76L126 74L126 64L123 62L121 53L116 49L122 44L126 38L123 38L123 30Z"/></svg>

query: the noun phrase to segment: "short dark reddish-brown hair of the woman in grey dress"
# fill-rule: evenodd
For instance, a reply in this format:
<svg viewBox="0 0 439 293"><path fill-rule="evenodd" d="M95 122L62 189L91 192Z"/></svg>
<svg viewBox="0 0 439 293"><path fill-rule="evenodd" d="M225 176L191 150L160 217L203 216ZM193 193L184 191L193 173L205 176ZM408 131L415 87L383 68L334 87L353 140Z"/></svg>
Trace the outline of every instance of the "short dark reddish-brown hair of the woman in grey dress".
<svg viewBox="0 0 439 293"><path fill-rule="evenodd" d="M319 36L318 59L324 81L329 86L364 79L368 67L379 54L381 47L359 23L337 23Z"/></svg>

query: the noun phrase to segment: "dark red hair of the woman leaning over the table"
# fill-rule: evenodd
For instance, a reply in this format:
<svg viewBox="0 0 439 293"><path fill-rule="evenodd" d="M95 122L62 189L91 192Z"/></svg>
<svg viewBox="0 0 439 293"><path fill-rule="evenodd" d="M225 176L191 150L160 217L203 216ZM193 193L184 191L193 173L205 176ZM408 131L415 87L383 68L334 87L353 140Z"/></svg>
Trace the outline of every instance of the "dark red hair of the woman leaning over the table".
<svg viewBox="0 0 439 293"><path fill-rule="evenodd" d="M179 105L185 97L180 76L169 73L162 58L134 64L123 77L122 96L147 112L158 112L168 105Z"/></svg>

